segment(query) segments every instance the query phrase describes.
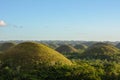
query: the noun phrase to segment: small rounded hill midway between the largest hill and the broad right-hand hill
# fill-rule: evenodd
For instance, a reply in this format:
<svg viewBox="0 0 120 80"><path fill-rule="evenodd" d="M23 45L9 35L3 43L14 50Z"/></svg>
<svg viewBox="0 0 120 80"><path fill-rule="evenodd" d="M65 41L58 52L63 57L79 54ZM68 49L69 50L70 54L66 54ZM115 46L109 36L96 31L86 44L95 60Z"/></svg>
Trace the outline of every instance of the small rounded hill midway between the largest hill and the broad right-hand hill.
<svg viewBox="0 0 120 80"><path fill-rule="evenodd" d="M70 46L70 45L61 45L60 47L58 47L56 49L56 51L60 52L60 53L73 53L73 52L77 52L77 50Z"/></svg>

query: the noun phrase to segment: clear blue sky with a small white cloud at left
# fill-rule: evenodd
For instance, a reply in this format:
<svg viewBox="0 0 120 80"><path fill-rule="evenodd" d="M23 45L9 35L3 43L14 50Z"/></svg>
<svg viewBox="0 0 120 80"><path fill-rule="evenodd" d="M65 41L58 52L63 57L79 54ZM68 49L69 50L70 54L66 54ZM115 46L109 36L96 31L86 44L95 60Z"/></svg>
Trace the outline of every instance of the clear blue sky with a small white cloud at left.
<svg viewBox="0 0 120 80"><path fill-rule="evenodd" d="M120 0L0 0L0 40L120 41Z"/></svg>

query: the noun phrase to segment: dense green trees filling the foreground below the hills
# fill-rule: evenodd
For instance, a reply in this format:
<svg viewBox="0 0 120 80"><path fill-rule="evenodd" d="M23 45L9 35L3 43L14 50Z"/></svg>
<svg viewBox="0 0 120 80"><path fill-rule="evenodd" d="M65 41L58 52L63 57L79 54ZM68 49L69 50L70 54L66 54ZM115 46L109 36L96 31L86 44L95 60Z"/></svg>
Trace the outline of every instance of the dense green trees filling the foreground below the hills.
<svg viewBox="0 0 120 80"><path fill-rule="evenodd" d="M107 60L74 60L71 66L35 67L22 70L0 67L0 80L119 80L120 64Z"/></svg>

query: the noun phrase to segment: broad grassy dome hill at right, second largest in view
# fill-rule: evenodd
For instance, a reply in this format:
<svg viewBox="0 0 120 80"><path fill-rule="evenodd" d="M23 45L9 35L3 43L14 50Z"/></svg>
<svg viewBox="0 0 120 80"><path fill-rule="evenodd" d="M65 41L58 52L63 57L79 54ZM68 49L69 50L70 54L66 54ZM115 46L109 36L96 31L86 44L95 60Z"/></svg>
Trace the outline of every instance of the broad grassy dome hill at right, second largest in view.
<svg viewBox="0 0 120 80"><path fill-rule="evenodd" d="M83 58L110 59L119 53L119 49L111 44L96 43L90 46L83 54Z"/></svg>

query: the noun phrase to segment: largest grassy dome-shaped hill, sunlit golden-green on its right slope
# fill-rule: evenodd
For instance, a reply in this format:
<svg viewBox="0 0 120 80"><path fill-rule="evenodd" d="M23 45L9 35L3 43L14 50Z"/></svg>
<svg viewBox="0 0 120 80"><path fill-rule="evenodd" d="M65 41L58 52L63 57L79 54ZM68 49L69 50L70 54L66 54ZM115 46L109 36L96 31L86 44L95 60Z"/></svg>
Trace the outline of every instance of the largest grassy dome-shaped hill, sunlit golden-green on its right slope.
<svg viewBox="0 0 120 80"><path fill-rule="evenodd" d="M71 65L71 61L57 51L34 42L24 42L9 49L2 56L4 64L11 67L33 68L36 65Z"/></svg>

